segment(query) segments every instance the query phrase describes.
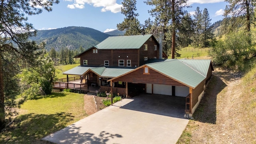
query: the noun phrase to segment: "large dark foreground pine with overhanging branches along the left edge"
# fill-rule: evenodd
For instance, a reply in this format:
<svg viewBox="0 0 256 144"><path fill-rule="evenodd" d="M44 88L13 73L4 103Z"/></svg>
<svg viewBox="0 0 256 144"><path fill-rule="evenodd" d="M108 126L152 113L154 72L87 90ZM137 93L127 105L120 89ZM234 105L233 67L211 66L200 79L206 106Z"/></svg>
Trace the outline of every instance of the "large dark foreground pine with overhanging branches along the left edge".
<svg viewBox="0 0 256 144"><path fill-rule="evenodd" d="M0 129L5 126L5 92L8 81L16 76L20 66L34 64L40 54L35 42L28 42L28 37L36 34L32 24L27 23L26 15L36 15L42 8L51 11L52 4L58 0L1 0L0 2ZM13 60L16 60L15 63ZM20 63L19 63L20 62Z"/></svg>

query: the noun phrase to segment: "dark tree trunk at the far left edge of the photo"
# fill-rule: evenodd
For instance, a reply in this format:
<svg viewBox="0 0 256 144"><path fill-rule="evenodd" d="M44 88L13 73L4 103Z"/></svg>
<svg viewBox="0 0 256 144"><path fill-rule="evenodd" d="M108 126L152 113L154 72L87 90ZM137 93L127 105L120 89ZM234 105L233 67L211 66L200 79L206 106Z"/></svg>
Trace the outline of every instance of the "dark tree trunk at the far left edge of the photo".
<svg viewBox="0 0 256 144"><path fill-rule="evenodd" d="M2 64L2 48L0 48L0 130L5 127L5 115L4 115L4 75Z"/></svg>

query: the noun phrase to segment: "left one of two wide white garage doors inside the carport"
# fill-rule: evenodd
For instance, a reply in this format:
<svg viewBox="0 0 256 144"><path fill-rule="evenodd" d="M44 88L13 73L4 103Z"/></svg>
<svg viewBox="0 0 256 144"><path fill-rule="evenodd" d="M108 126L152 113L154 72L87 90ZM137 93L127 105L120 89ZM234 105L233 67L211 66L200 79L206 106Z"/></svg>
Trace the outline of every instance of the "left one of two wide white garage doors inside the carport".
<svg viewBox="0 0 256 144"><path fill-rule="evenodd" d="M172 95L172 86L163 84L153 84L154 94Z"/></svg>

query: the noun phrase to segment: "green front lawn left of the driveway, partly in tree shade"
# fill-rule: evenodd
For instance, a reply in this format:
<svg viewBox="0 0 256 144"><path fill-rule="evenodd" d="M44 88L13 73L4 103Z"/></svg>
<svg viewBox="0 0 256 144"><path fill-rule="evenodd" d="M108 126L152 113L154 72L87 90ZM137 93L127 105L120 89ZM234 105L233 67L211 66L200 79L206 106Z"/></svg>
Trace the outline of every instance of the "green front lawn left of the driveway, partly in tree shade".
<svg viewBox="0 0 256 144"><path fill-rule="evenodd" d="M44 144L41 138L86 116L84 94L60 92L28 100L21 105L20 116L1 133L0 144Z"/></svg>

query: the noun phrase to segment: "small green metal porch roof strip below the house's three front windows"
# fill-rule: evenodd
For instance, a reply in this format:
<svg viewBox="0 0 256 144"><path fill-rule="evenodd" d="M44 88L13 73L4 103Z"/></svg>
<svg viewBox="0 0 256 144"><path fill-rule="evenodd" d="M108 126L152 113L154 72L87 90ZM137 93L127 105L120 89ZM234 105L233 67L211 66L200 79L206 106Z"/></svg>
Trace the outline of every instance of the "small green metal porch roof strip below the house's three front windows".
<svg viewBox="0 0 256 144"><path fill-rule="evenodd" d="M106 68L104 72L102 73L102 77L105 78L114 78L117 76L121 76L122 74L125 74L127 72L130 72L134 69L128 69L128 68Z"/></svg>

